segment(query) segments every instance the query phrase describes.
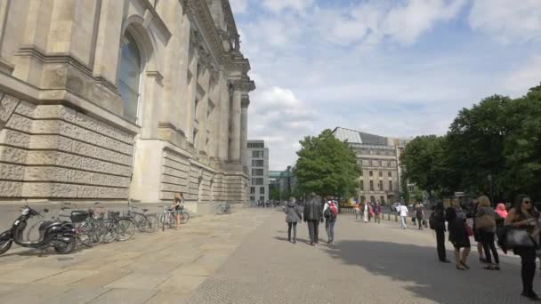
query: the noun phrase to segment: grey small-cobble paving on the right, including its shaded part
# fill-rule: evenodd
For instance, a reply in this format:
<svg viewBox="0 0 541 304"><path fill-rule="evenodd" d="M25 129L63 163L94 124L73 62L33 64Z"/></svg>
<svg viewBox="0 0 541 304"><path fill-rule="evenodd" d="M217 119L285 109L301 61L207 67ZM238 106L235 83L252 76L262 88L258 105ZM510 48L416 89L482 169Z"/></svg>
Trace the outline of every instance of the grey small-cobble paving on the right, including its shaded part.
<svg viewBox="0 0 541 304"><path fill-rule="evenodd" d="M402 230L387 220L365 224L344 214L335 226L335 245L305 244L305 224L300 242L287 243L286 237L277 212L182 303L529 303L519 296L518 259L504 257L502 271L489 271L474 253L472 269L458 271L437 261L428 229ZM320 237L327 239L325 232Z"/></svg>

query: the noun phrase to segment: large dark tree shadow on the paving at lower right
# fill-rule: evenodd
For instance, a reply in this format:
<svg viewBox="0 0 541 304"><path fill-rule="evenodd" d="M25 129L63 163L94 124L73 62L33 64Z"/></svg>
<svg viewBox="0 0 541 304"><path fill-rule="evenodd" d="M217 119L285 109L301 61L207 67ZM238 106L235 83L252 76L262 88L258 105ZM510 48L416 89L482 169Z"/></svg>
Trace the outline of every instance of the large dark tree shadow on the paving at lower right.
<svg viewBox="0 0 541 304"><path fill-rule="evenodd" d="M360 266L373 276L400 281L403 289L422 299L438 303L528 302L519 295L521 272L518 263L501 261L501 271L485 270L474 253L468 259L472 269L459 271L455 268L452 252L448 251L448 259L453 263L444 264L436 260L433 247L377 241L343 240L326 251L332 258ZM534 286L541 292L539 280L537 275Z"/></svg>

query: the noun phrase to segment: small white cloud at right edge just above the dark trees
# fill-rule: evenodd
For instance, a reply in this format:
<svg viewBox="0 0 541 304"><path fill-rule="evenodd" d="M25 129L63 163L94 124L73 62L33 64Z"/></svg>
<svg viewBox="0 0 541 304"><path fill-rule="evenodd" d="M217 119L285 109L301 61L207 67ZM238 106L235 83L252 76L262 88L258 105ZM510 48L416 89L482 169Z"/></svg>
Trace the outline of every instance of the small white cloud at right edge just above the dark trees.
<svg viewBox="0 0 541 304"><path fill-rule="evenodd" d="M537 55L517 68L505 79L505 90L512 97L520 97L541 83L541 56Z"/></svg>

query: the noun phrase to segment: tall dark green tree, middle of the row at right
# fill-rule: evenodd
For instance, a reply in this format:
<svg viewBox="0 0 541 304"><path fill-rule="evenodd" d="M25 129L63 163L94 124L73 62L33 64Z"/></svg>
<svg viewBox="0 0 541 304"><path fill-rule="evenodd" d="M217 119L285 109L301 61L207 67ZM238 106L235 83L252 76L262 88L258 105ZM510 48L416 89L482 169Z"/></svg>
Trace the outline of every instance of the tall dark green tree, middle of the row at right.
<svg viewBox="0 0 541 304"><path fill-rule="evenodd" d="M455 188L472 193L501 193L505 174L505 139L510 134L506 112L513 100L494 95L463 108L447 135L446 166L453 168Z"/></svg>

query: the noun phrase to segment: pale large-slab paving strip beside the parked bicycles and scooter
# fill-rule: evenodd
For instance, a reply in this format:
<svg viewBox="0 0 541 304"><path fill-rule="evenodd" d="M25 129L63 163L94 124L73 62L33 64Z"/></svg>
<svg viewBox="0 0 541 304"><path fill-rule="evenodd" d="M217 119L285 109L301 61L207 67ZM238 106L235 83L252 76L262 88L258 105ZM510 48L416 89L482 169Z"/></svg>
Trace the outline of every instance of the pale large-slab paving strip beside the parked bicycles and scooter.
<svg viewBox="0 0 541 304"><path fill-rule="evenodd" d="M195 218L181 231L136 234L69 256L15 248L0 256L0 303L176 303L271 214Z"/></svg>

